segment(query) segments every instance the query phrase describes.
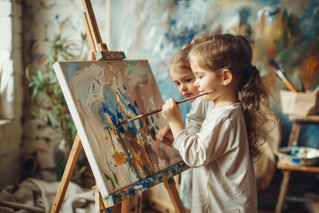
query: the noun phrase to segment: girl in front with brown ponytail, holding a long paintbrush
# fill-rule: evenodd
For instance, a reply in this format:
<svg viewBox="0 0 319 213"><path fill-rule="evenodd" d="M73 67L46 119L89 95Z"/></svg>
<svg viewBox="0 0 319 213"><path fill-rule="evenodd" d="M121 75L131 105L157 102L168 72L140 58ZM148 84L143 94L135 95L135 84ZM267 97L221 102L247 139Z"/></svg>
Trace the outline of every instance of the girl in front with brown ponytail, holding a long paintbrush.
<svg viewBox="0 0 319 213"><path fill-rule="evenodd" d="M242 35L218 34L195 44L189 52L203 101L214 101L200 129L184 127L174 99L163 105L171 144L193 168L191 212L257 212L253 162L263 154L262 137L277 117L271 92L252 64L252 48ZM168 144L168 143L165 143Z"/></svg>

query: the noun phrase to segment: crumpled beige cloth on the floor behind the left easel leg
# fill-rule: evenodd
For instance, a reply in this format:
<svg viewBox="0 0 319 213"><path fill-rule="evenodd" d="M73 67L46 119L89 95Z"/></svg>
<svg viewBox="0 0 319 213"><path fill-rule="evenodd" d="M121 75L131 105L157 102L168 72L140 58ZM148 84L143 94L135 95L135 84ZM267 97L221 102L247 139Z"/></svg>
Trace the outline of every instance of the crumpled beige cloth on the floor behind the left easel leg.
<svg viewBox="0 0 319 213"><path fill-rule="evenodd" d="M0 212L48 213L59 186L59 181L46 182L34 178L25 179L17 187L9 185L0 193ZM85 192L81 186L70 182L59 212L95 212L94 192Z"/></svg>

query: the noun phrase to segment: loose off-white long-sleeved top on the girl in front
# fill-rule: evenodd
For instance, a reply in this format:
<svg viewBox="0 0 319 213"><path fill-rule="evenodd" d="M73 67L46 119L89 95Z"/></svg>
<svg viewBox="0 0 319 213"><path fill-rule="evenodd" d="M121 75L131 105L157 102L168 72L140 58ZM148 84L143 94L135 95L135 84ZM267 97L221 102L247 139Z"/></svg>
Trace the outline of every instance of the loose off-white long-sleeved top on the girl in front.
<svg viewBox="0 0 319 213"><path fill-rule="evenodd" d="M193 213L257 212L242 103L210 110L201 131L183 130L173 147L193 168Z"/></svg>

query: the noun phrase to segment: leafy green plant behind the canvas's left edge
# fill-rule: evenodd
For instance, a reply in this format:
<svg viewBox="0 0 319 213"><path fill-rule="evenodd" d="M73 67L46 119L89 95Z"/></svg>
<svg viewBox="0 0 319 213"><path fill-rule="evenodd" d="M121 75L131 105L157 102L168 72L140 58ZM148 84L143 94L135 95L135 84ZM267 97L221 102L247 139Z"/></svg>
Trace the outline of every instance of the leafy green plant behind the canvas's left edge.
<svg viewBox="0 0 319 213"><path fill-rule="evenodd" d="M60 61L84 60L83 49L86 45L86 34L82 41L62 38L57 35L54 40L43 40L50 46L47 63L44 69L30 75L29 66L26 68L26 79L31 89L31 101L39 109L33 111L33 123L43 122L56 130L71 146L76 135L76 129L64 99L52 64ZM81 58L82 57L82 58Z"/></svg>

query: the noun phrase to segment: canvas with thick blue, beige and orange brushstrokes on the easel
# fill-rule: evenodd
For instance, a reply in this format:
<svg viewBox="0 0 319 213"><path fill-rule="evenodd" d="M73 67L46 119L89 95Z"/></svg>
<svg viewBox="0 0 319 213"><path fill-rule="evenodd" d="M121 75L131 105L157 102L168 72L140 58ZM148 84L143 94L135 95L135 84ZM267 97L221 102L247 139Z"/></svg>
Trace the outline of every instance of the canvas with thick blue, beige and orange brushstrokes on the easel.
<svg viewBox="0 0 319 213"><path fill-rule="evenodd" d="M102 197L182 162L155 141L163 106L147 60L60 61L54 69Z"/></svg>

